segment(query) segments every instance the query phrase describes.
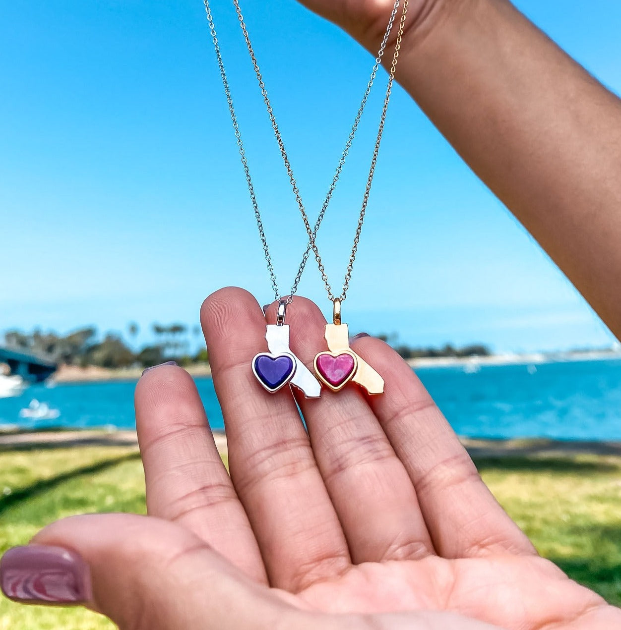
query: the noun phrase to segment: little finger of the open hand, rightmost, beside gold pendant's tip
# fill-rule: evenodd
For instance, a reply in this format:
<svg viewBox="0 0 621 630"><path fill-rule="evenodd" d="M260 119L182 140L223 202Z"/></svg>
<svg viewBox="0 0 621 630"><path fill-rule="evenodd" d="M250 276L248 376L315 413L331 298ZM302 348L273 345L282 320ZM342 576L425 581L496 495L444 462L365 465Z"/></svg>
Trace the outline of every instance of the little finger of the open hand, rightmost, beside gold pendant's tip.
<svg viewBox="0 0 621 630"><path fill-rule="evenodd" d="M369 404L414 483L438 554L535 553L409 365L371 337L357 340L355 348L386 381L385 394Z"/></svg>

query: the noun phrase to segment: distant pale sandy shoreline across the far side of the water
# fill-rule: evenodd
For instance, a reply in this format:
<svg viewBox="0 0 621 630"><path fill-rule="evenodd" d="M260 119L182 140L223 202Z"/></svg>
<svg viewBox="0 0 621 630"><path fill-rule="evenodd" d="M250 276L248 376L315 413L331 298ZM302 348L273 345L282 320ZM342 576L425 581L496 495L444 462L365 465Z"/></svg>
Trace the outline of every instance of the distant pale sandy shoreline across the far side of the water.
<svg viewBox="0 0 621 630"><path fill-rule="evenodd" d="M580 361L621 360L621 352L597 350L591 352L533 352L527 354L497 354L488 357L421 357L407 360L413 369L463 367L466 372L473 372L485 366L502 365L543 365L550 363L570 363ZM209 364L194 364L185 367L193 377L211 377ZM61 365L52 377L58 384L137 381L142 368L110 369L105 367L79 367Z"/></svg>

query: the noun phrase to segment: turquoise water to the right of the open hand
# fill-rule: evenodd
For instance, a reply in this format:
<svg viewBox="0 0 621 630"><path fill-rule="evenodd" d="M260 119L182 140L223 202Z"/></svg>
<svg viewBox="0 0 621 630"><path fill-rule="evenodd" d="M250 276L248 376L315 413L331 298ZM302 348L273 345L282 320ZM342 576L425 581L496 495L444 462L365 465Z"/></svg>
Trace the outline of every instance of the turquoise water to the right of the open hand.
<svg viewBox="0 0 621 630"><path fill-rule="evenodd" d="M459 435L621 440L621 360L417 374Z"/></svg>

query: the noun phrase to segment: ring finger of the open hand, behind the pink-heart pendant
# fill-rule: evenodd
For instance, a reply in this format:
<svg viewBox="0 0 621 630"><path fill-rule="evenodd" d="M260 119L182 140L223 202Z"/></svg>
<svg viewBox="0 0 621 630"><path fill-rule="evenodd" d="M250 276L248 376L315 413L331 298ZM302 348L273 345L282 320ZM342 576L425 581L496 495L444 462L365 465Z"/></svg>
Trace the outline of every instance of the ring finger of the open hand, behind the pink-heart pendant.
<svg viewBox="0 0 621 630"><path fill-rule="evenodd" d="M276 304L268 311L268 321L274 318ZM287 322L292 349L311 365L325 348L323 315L313 302L296 297ZM412 481L359 388L350 385L338 393L324 388L319 400L299 396L298 403L352 561L433 553Z"/></svg>

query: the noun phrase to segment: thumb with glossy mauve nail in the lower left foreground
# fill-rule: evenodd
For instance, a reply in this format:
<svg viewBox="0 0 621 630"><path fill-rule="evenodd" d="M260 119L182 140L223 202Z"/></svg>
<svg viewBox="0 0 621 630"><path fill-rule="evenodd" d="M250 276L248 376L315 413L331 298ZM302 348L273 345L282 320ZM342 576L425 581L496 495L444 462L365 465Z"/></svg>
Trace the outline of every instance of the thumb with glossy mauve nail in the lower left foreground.
<svg viewBox="0 0 621 630"><path fill-rule="evenodd" d="M276 627L291 610L192 532L130 514L49 525L4 554L0 575L11 599L83 604L122 629Z"/></svg>

